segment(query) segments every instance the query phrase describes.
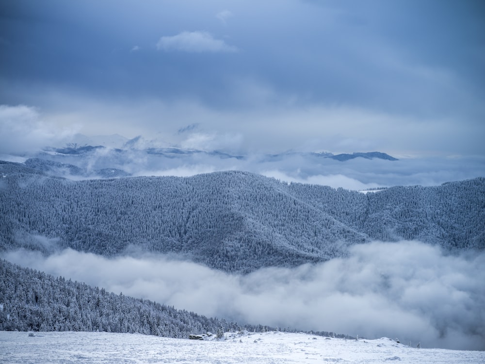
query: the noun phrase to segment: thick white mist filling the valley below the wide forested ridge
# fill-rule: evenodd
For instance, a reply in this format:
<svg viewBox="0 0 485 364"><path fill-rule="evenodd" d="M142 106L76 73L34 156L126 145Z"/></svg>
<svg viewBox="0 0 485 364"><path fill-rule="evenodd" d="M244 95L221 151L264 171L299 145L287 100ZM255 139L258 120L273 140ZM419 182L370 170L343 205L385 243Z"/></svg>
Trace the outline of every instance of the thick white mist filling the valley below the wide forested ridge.
<svg viewBox="0 0 485 364"><path fill-rule="evenodd" d="M450 255L417 241L373 242L346 258L297 268L226 274L167 255L105 258L71 249L10 262L237 321L399 338L407 344L485 349L485 253Z"/></svg>

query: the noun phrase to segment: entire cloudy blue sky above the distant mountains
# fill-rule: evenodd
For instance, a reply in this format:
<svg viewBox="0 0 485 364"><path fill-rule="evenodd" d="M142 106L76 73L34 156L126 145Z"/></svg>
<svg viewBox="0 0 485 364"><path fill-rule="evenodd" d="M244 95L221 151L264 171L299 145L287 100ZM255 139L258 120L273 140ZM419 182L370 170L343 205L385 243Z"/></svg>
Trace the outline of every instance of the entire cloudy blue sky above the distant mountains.
<svg viewBox="0 0 485 364"><path fill-rule="evenodd" d="M0 52L12 151L79 132L485 155L482 1L7 0Z"/></svg>

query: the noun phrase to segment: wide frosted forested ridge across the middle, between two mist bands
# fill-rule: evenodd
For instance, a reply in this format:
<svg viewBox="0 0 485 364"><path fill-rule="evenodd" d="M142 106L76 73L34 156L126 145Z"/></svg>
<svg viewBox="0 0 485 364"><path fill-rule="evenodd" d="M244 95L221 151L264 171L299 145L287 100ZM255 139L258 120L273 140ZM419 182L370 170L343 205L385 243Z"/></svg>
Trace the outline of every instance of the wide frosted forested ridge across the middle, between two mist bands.
<svg viewBox="0 0 485 364"><path fill-rule="evenodd" d="M116 255L135 246L249 272L327 260L371 240L485 248L484 178L362 194L239 171L71 181L0 168L3 249L55 242Z"/></svg>

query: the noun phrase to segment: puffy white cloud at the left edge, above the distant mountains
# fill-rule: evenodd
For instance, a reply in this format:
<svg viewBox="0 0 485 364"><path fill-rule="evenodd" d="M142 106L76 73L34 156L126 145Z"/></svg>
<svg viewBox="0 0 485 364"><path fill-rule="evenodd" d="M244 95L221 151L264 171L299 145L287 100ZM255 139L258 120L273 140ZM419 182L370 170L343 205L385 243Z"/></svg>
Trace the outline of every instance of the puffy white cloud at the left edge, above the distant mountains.
<svg viewBox="0 0 485 364"><path fill-rule="evenodd" d="M33 107L0 105L0 153L35 151L75 131L75 125L65 128L45 122Z"/></svg>

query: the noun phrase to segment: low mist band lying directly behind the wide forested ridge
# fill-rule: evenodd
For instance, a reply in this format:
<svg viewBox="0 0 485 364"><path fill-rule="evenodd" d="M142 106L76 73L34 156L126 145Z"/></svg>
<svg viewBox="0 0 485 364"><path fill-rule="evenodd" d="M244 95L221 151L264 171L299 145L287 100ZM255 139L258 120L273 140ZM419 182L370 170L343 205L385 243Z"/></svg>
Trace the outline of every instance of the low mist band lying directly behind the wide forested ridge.
<svg viewBox="0 0 485 364"><path fill-rule="evenodd" d="M143 144L144 141L142 140L141 143ZM393 155L399 160L355 158L340 162L307 152L231 154L224 152L224 149L209 152L188 149L184 153L177 153L170 149L160 149L162 150L160 153L154 153L148 151L147 148L147 146L144 146L143 149L129 147L124 150L105 148L79 155L40 152L32 154L31 157L76 165L85 171L82 176L69 175L69 170L66 168L62 171L52 168L46 172L74 180L97 178L97 171L105 168L115 168L130 176L177 177L225 170L242 170L274 177L284 182L302 182L328 185L333 188L362 190L395 185L432 186L485 176L485 157L483 156L411 158ZM98 176L98 178L106 177Z"/></svg>

